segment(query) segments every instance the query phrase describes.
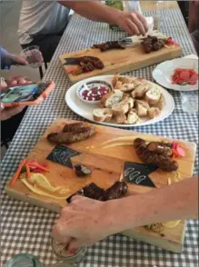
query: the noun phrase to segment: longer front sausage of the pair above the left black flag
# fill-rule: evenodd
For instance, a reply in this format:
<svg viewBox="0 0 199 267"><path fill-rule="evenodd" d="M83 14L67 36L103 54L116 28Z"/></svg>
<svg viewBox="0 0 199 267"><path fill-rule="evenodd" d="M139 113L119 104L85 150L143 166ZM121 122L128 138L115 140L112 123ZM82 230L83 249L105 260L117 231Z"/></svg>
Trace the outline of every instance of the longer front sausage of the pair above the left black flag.
<svg viewBox="0 0 199 267"><path fill-rule="evenodd" d="M67 133L53 133L47 135L47 140L53 143L75 143L83 141L86 138L95 134L95 128L91 127L82 127L75 132Z"/></svg>

